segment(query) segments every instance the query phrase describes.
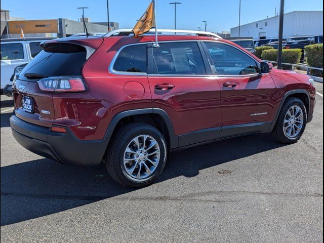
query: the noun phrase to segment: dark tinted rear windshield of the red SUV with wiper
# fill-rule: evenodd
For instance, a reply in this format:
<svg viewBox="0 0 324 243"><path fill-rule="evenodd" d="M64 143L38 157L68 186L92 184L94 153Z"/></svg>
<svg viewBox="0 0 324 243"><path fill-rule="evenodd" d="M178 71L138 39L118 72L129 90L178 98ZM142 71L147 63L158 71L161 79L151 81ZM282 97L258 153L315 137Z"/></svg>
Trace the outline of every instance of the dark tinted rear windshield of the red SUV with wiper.
<svg viewBox="0 0 324 243"><path fill-rule="evenodd" d="M39 76L81 75L87 52L83 47L72 44L57 44L44 49L31 60L19 75L19 79L37 82L37 78L27 78L24 74Z"/></svg>

